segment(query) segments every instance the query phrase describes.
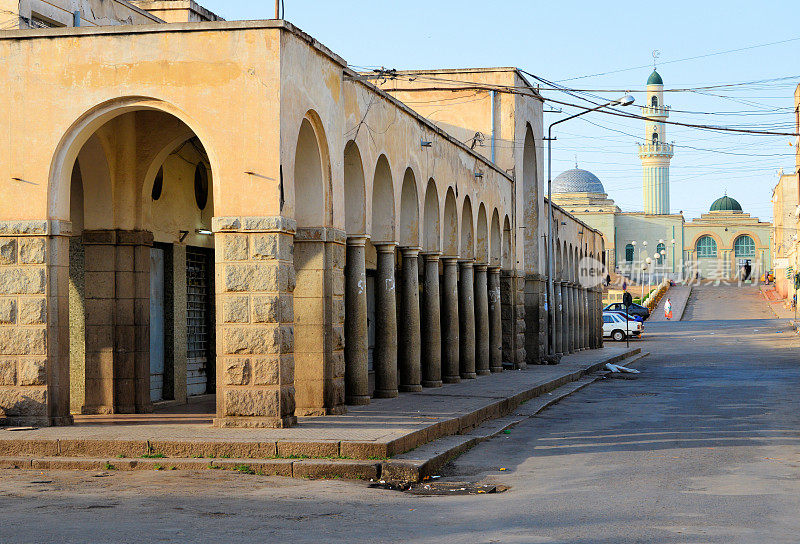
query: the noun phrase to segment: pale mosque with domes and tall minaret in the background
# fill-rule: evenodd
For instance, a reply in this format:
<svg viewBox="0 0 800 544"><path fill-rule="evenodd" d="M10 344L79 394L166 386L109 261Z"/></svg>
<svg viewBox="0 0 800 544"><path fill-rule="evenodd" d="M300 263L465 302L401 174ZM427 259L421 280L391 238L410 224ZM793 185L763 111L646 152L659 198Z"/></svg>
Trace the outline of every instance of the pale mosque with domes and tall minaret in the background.
<svg viewBox="0 0 800 544"><path fill-rule="evenodd" d="M708 213L687 221L670 210L669 164L674 143L667 142L664 82L653 70L642 106L645 142L642 161L644 211L623 211L602 182L586 170L567 170L553 180L553 202L603 233L604 264L626 276L641 274L675 280L738 277L746 265L758 278L771 267L772 224L742 210L727 194Z"/></svg>

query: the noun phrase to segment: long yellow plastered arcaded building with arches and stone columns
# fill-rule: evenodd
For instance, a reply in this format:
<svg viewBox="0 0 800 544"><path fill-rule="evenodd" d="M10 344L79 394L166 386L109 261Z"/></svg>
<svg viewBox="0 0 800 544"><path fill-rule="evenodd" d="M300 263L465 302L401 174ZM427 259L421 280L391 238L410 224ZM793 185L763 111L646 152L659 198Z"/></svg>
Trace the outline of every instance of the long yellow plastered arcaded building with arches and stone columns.
<svg viewBox="0 0 800 544"><path fill-rule="evenodd" d="M4 423L214 393L215 425L284 427L602 345L579 281L602 235L558 207L545 300L532 86L445 128L274 20L17 30L0 54ZM487 119L521 145L454 136Z"/></svg>

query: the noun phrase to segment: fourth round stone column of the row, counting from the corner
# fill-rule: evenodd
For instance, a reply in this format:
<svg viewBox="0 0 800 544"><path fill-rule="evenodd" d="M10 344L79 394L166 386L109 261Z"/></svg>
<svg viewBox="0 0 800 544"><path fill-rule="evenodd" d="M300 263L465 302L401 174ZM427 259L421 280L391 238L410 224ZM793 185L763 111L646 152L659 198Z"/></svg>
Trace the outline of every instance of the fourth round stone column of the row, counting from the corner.
<svg viewBox="0 0 800 544"><path fill-rule="evenodd" d="M422 292L422 387L442 386L442 316L439 310L439 255L426 253Z"/></svg>

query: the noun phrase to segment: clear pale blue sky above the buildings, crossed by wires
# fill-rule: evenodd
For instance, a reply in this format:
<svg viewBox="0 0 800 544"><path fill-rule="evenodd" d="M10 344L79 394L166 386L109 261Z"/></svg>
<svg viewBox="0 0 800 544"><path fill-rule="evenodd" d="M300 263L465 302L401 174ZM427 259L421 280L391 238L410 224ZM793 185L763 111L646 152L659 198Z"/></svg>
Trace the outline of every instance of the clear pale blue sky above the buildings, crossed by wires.
<svg viewBox="0 0 800 544"><path fill-rule="evenodd" d="M271 0L201 3L229 20L264 19L274 14ZM666 101L674 110L737 112L673 113L671 120L794 132L792 96L800 83L800 9L796 2L694 0L657 2L652 7L642 2L530 0L285 0L285 4L287 20L358 67L517 66L560 81L641 66L564 84L642 90L652 69L647 66L652 63L651 52L658 49L659 72L666 88L790 78L707 91L717 96L675 92ZM619 6L629 9L610 9ZM793 38L797 39L669 62ZM620 93L595 94L616 98ZM546 96L576 101L560 92ZM636 96L642 104L642 95ZM633 111L638 113L638 109ZM545 120L560 115L547 114ZM587 118L605 128L582 120L561 125L554 148L554 172L573 167L577 155L580 167L594 172L620 207L640 210L641 163L635 143L644 139L642 122L600 114ZM727 191L746 212L771 221L776 171L779 167L793 169L792 138L721 135L684 127L668 127L667 133L676 145L691 146L678 147L672 160L673 212L683 210L687 218L699 216Z"/></svg>

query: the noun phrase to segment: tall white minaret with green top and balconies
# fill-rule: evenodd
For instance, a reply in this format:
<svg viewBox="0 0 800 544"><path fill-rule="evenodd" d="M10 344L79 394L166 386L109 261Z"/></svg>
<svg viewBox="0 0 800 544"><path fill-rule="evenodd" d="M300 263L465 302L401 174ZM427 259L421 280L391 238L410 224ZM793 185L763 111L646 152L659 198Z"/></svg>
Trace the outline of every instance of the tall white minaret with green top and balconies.
<svg viewBox="0 0 800 544"><path fill-rule="evenodd" d="M669 161L673 146L667 143L669 106L664 105L664 82L653 69L647 80L647 102L642 106L645 121L645 142L639 145L642 160L644 213L669 213Z"/></svg>

